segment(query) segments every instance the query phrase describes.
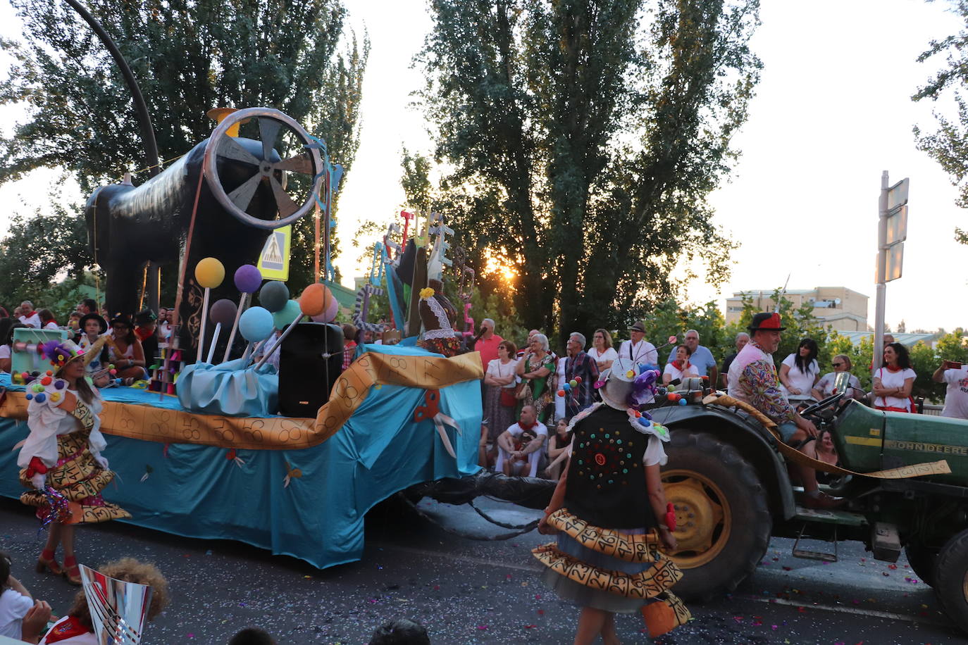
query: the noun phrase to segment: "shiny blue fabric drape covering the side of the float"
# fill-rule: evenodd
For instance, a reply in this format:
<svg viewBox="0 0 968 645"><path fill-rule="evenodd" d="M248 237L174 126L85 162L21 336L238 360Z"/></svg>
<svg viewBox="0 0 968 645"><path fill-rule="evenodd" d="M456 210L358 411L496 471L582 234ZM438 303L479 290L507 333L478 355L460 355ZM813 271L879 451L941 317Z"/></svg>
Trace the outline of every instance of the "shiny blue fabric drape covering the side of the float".
<svg viewBox="0 0 968 645"><path fill-rule="evenodd" d="M367 349L429 355L412 347ZM9 383L0 379L0 386ZM173 396L130 388L106 390L105 397L178 407ZM120 477L104 495L132 513L123 521L138 526L248 542L319 568L352 562L363 552L363 517L379 501L411 484L478 470L480 384L440 390L440 411L462 428L458 434L445 426L456 460L432 421L413 422L414 409L423 404L423 390L375 387L328 441L297 451L237 451L244 463L228 458L224 448L171 444L166 456L164 444L108 434L105 455ZM22 491L13 449L26 436L25 423L0 419L0 494L7 497ZM287 474L296 470L301 477L291 477L286 487Z"/></svg>

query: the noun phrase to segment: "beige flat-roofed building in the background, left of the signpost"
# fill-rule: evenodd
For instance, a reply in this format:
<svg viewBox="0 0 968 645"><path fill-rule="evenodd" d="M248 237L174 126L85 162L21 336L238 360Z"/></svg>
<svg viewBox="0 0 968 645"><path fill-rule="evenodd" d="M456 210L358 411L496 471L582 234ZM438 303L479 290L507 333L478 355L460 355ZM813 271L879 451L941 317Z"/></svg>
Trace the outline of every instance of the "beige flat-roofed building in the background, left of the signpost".
<svg viewBox="0 0 968 645"><path fill-rule="evenodd" d="M770 311L776 307L773 289L749 289L736 291L726 299L726 323L740 320L743 297L753 301L758 311ZM843 332L867 331L867 296L843 286L818 286L813 289L788 289L784 297L795 309L805 304L813 306L813 315Z"/></svg>

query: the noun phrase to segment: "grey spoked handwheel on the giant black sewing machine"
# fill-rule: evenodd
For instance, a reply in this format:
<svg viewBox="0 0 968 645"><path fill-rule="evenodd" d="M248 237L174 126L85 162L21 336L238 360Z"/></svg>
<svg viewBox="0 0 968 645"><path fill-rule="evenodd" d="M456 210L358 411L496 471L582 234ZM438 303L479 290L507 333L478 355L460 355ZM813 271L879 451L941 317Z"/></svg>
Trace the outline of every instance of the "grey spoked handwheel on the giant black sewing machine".
<svg viewBox="0 0 968 645"><path fill-rule="evenodd" d="M235 125L255 122L261 155L253 154L239 140L228 134ZM254 127L249 128L255 131ZM276 144L288 137L301 148L287 159L280 159ZM315 141L294 119L271 107L247 107L229 114L218 125L205 148L202 170L208 187L215 198L234 218L250 226L271 230L299 220L313 210L315 195L322 182L322 157L318 147L310 147ZM253 175L232 191L226 191L219 179L218 159L240 161L253 167ZM309 176L312 188L295 191L287 187L286 173ZM261 220L247 212L249 204L260 184L267 183L279 209L278 220ZM299 183L302 186L306 182Z"/></svg>

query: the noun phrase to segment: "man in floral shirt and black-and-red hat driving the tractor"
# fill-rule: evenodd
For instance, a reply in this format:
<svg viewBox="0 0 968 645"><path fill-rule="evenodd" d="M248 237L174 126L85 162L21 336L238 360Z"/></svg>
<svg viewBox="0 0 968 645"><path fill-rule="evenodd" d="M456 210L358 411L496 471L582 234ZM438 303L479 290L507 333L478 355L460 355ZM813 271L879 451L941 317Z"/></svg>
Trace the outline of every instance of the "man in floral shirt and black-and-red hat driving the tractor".
<svg viewBox="0 0 968 645"><path fill-rule="evenodd" d="M780 344L780 332L785 327L778 313L757 313L749 325L750 340L729 367L729 394L745 401L776 424L783 442L798 447L807 456L816 458L815 439L817 427L803 419L790 405L779 387L776 364L772 353ZM795 464L800 474L806 496L803 500L808 509L831 509L844 502L843 498L831 497L817 487L817 474L813 468Z"/></svg>

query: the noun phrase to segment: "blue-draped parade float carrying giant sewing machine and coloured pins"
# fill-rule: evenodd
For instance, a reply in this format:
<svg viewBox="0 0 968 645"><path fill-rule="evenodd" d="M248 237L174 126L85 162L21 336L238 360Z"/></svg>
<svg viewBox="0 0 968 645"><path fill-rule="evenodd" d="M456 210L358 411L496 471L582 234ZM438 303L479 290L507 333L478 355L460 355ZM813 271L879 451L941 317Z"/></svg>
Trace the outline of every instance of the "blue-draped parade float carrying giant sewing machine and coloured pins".
<svg viewBox="0 0 968 645"><path fill-rule="evenodd" d="M228 112L164 172L137 187L99 188L87 203L111 310L135 308L130 278L145 261L177 260L180 276L174 333L150 381L103 390L101 429L119 476L106 497L138 526L248 542L320 568L359 559L364 515L414 484L461 501L485 489L520 497L520 483L508 490L479 473L483 370L476 352L455 351L457 311L440 289L454 271L453 231L438 217L409 238L391 227L353 315L363 330L381 331L367 306L385 291L387 337L399 330L402 341L361 344L343 370L329 261L341 171L325 143L287 115ZM255 265L260 254L276 259L280 227L311 212L318 282L290 299ZM457 274L467 305L472 272L461 262ZM277 331L278 372L267 363L271 351L254 360ZM35 361L51 333L66 334L18 337L14 378L0 380L0 494L8 497L22 492L16 448L29 398L43 396ZM547 501L548 484L531 484L540 494L530 506Z"/></svg>

